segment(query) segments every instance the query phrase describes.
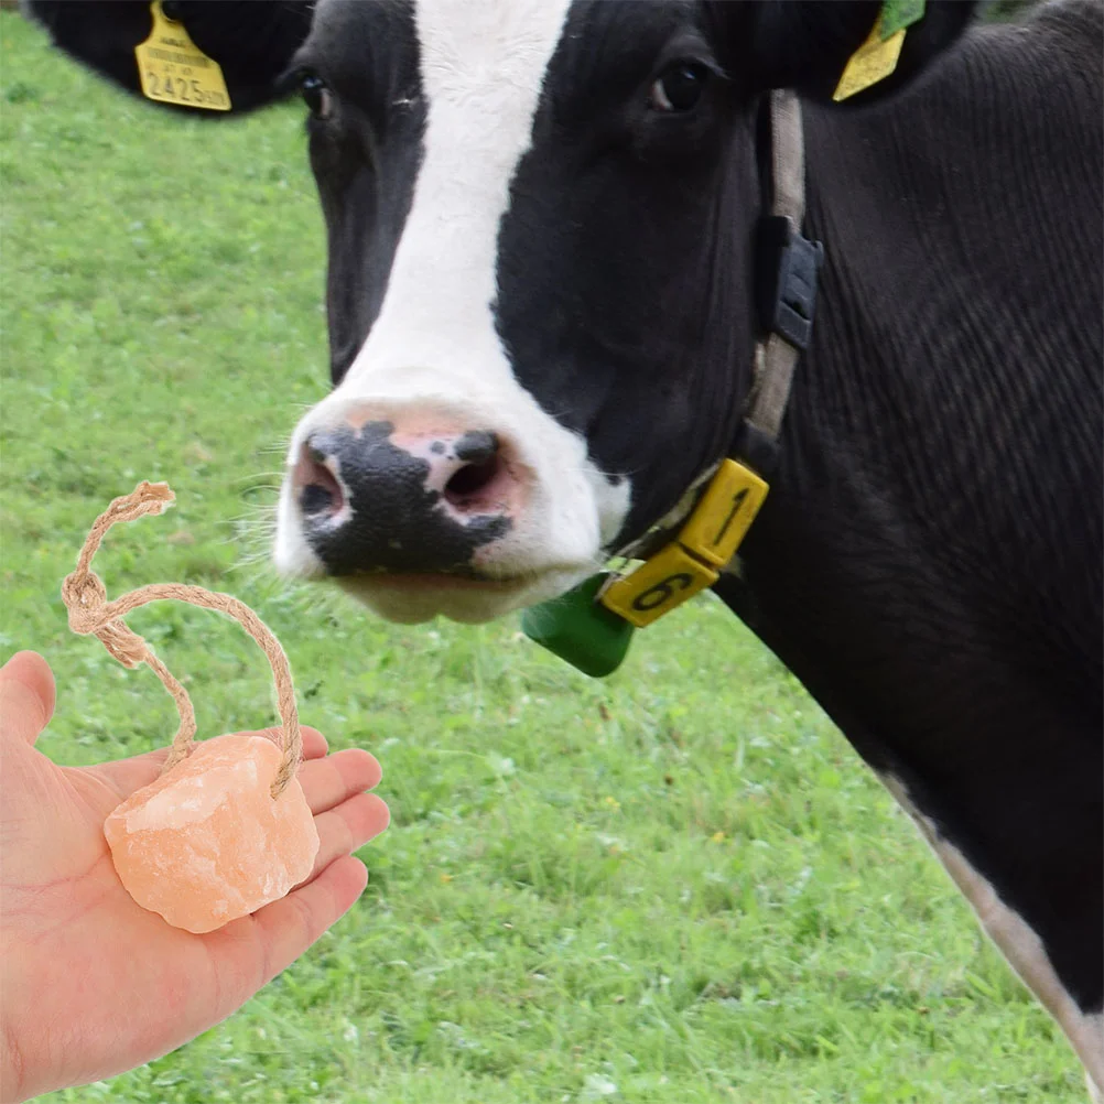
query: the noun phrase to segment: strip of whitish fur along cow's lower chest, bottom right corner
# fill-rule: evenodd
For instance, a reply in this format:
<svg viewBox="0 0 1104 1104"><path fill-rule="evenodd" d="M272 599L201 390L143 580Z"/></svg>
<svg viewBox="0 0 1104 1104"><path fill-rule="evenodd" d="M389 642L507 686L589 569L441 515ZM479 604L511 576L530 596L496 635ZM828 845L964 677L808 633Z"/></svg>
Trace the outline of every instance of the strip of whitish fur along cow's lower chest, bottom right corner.
<svg viewBox="0 0 1104 1104"><path fill-rule="evenodd" d="M1090 1091L1095 1092L1094 1100L1098 1100L1104 1094L1104 1013L1085 1015L1081 1011L1054 973L1042 940L1027 921L1000 900L997 891L970 866L962 851L943 837L931 817L920 811L899 778L891 774L883 774L881 778L969 901L986 934L997 944L1023 984L1058 1020L1085 1068Z"/></svg>

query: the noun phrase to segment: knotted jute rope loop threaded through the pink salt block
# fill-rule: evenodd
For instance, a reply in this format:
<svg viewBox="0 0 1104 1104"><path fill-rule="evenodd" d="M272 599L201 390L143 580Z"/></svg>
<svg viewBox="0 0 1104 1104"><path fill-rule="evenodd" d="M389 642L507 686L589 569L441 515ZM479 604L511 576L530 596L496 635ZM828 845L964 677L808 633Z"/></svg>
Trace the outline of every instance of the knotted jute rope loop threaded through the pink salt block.
<svg viewBox="0 0 1104 1104"><path fill-rule="evenodd" d="M103 581L92 570L92 560L99 549L104 534L116 522L135 521L148 513L163 513L176 501L168 484L142 480L129 495L115 499L96 519L76 560L76 571L62 583L62 601L68 609L70 628L81 635L98 637L104 647L124 667L135 668L146 664L172 694L180 713L180 728L172 739L172 749L161 773L171 771L192 752L195 740L195 710L188 691L172 677L168 668L153 654L153 649L137 633L128 628L123 618L149 602L170 599L188 602L193 606L214 609L238 622L268 658L276 680L276 701L283 728L280 747L284 758L272 785L273 797L278 797L291 781L302 754L302 734L299 731L299 711L295 704L295 686L287 656L272 629L244 602L229 594L205 591L202 586L183 583L151 583L129 594L107 601Z"/></svg>

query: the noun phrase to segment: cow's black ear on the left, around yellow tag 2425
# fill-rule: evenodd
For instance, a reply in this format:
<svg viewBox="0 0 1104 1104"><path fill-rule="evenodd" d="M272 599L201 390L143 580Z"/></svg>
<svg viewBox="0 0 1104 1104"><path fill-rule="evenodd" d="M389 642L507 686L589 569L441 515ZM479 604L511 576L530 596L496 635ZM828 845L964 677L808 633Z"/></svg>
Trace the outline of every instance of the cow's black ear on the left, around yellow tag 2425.
<svg viewBox="0 0 1104 1104"><path fill-rule="evenodd" d="M135 46L153 25L138 0L23 0L55 45L100 76L140 93ZM310 31L314 0L164 0L166 17L219 63L231 109L252 110L286 94L278 78ZM217 117L222 113L200 112Z"/></svg>

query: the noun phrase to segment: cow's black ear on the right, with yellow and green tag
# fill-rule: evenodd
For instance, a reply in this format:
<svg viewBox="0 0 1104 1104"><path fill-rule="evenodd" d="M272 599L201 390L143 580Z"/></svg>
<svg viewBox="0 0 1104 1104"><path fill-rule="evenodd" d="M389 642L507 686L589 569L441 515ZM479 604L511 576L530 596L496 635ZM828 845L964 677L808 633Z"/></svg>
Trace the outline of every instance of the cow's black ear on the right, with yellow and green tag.
<svg viewBox="0 0 1104 1104"><path fill-rule="evenodd" d="M884 32L905 23L892 73L843 100L868 104L896 92L951 46L975 8L969 0L761 0L745 8L741 38L751 44L746 72L755 92L793 88L806 98L830 102L860 51L866 51L860 66L863 60L871 62L868 72L884 66L881 47L892 51L895 43L882 43L875 24Z"/></svg>

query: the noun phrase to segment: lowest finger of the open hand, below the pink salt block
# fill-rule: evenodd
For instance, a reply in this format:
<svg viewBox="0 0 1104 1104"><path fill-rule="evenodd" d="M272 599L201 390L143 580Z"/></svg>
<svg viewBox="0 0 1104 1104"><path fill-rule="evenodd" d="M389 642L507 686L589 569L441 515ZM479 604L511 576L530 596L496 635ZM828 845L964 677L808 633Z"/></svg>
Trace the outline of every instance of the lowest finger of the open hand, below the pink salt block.
<svg viewBox="0 0 1104 1104"><path fill-rule="evenodd" d="M367 884L368 868L360 859L347 854L327 867L309 885L254 913L264 952L261 984L272 980L317 942L352 907Z"/></svg>

